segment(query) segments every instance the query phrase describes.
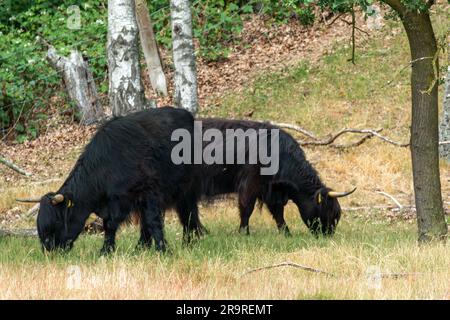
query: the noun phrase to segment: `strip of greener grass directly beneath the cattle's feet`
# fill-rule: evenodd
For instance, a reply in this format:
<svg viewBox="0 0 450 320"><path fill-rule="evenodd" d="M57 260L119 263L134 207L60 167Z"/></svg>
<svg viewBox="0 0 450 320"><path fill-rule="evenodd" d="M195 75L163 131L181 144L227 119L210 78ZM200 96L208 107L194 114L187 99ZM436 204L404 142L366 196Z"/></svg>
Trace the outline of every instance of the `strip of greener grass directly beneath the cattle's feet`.
<svg viewBox="0 0 450 320"><path fill-rule="evenodd" d="M292 253L300 249L328 248L344 243L359 244L363 250L371 250L374 247L387 249L397 245L399 241L408 243L416 241L414 226L410 223L367 220L355 216L350 221L343 220L334 237L316 238L308 232L300 218L297 218L298 213L295 211L293 206L290 207L287 219L293 230L293 236L285 237L277 231L267 212L263 212L264 217L260 217L258 212L254 213L251 235L246 236L237 232L237 213L235 213L235 217L230 217L227 210L223 210L223 216L214 219L206 218L210 233L189 247L182 245L181 227L177 221L172 219L165 228L169 251L163 255L154 249L136 249L139 237L138 228L124 227L117 237L117 250L110 258L134 261L161 256L167 265L177 263L180 259L194 264L195 261L202 262L205 259L233 263L239 260L242 254L248 253L257 257L266 252ZM23 263L95 264L98 259L103 258L99 254L102 242L101 235L82 234L70 252L43 254L36 238L1 238L0 263L10 265Z"/></svg>

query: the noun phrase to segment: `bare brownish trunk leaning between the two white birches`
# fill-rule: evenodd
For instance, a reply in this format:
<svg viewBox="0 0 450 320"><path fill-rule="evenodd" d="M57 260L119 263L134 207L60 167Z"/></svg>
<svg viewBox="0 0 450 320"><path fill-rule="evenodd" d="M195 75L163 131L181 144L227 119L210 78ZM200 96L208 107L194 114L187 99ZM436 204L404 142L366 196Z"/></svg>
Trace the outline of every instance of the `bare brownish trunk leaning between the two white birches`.
<svg viewBox="0 0 450 320"><path fill-rule="evenodd" d="M147 64L148 75L153 90L157 94L167 96L166 76L162 69L161 58L156 44L153 25L148 13L147 2L145 0L135 0L136 19L139 26L139 37L141 39L142 51L144 52Z"/></svg>

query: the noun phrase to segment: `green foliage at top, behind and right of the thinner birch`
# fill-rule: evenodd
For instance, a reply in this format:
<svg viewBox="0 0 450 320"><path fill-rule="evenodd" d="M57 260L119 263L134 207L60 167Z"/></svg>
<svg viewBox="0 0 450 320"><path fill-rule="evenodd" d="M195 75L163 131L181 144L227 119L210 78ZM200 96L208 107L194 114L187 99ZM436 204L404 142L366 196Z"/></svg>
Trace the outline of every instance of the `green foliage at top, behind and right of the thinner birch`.
<svg viewBox="0 0 450 320"><path fill-rule="evenodd" d="M300 23L310 25L314 22L311 2L312 0L193 1L193 33L200 43L198 54L211 61L226 58L227 44L241 32L245 15L254 12L268 15L280 23L297 18ZM149 11L158 42L170 48L170 1L150 1Z"/></svg>

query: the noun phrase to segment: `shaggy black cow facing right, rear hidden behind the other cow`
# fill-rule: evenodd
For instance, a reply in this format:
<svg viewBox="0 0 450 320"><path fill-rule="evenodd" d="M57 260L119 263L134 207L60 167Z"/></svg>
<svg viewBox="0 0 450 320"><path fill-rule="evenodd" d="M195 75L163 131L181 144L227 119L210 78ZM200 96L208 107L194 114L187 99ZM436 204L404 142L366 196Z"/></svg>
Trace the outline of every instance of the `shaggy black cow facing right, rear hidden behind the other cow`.
<svg viewBox="0 0 450 320"><path fill-rule="evenodd" d="M202 121L203 132L208 129L218 129L223 137L227 130L267 129L267 141L270 142L271 129L279 129L268 123L242 120L199 119ZM196 170L196 199L213 198L217 195L237 193L240 211L240 231L249 233L249 218L259 200L267 205L280 231L290 234L283 216L283 209L288 200L298 207L300 216L308 228L314 233L333 234L341 216L338 197L350 192L335 192L324 185L316 170L306 160L305 154L297 141L288 133L279 130L279 169L271 175L262 175L260 169L264 165L258 160L249 164L250 145L261 141L246 143L245 148L237 150L226 148L226 138L223 141L223 158L227 152L244 152L245 164L203 164ZM258 137L260 140L260 136ZM248 141L247 141L248 142ZM203 142L203 148L212 142ZM270 153L270 144L269 146ZM275 151L275 150L274 150ZM275 156L275 155L272 155ZM236 155L234 155L236 158ZM225 162L225 160L224 160ZM193 217L195 217L195 212Z"/></svg>

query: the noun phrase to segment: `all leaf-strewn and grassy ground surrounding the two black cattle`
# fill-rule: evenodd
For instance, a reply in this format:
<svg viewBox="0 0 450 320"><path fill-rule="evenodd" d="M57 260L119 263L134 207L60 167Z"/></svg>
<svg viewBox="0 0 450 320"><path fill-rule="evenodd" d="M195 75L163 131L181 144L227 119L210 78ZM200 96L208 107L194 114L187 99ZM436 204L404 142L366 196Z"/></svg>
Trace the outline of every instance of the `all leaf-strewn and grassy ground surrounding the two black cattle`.
<svg viewBox="0 0 450 320"><path fill-rule="evenodd" d="M448 11L433 16L436 34L444 34ZM258 23L263 22L248 30L255 25L264 30ZM342 128L383 129L395 141L409 140L410 69L405 66L410 57L399 22L385 22L370 36L359 33L355 65L347 61L351 28L342 21L328 29L266 27L254 43L244 29L250 44L234 48L230 60L215 66L200 61L200 116L291 123L319 137ZM270 41L268 34L273 34ZM26 215L30 206L14 199L57 189L93 132L55 115L38 139L0 144L2 154L33 173L25 178L0 166L0 228L34 226ZM358 138L344 135L338 142ZM171 253L166 255L136 251L138 231L131 226L123 228L117 252L107 258L98 255L102 236L96 234L83 235L67 255L43 255L34 238L1 238L0 298L450 299L449 245L417 245L409 149L372 138L344 150L304 150L327 185L358 187L342 199L346 210L333 238L312 237L292 204L286 218L293 237L278 234L265 208L254 213L251 235L240 235L232 200L201 207L210 234L190 248L181 246L181 227L169 213ZM449 177L449 166L442 163L446 206ZM404 208L354 209L395 206L380 191ZM333 276L292 266L245 274L286 261Z"/></svg>

